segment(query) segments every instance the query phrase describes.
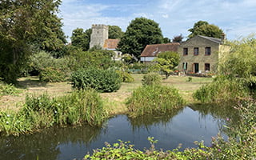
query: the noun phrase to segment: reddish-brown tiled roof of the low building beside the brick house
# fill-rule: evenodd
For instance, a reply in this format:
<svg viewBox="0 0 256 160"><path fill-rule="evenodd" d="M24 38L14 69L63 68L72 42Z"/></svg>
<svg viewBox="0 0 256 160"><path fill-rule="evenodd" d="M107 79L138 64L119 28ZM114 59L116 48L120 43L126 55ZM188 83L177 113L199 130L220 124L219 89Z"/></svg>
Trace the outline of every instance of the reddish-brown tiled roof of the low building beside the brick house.
<svg viewBox="0 0 256 160"><path fill-rule="evenodd" d="M160 52L174 51L178 52L178 42L147 45L142 51L141 57L156 57Z"/></svg>

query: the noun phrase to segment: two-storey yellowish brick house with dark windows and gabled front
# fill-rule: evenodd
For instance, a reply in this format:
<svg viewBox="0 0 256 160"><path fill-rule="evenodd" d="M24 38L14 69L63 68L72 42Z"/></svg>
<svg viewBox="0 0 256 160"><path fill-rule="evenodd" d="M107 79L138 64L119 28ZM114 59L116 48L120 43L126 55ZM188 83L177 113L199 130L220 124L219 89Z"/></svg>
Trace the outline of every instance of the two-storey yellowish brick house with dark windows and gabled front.
<svg viewBox="0 0 256 160"><path fill-rule="evenodd" d="M207 73L218 70L219 59L230 50L224 45L225 37L211 38L197 35L178 47L178 70L186 73Z"/></svg>

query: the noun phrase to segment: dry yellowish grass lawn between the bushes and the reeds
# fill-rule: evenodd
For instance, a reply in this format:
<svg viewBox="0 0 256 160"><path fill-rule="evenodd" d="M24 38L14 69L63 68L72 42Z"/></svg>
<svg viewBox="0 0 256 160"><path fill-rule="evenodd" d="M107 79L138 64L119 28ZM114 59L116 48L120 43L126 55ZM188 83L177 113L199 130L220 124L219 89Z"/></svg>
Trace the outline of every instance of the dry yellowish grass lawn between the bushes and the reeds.
<svg viewBox="0 0 256 160"><path fill-rule="evenodd" d="M132 94L132 91L138 86L142 86L143 74L133 74L134 82L122 83L121 88L117 92L102 93L102 98L106 102L108 108L110 108L110 114L122 114L126 113L125 106L126 98ZM193 77L191 82L186 82L188 77L186 76L170 76L168 79L162 82L166 86L174 86L186 102L194 102L192 94L194 90L197 90L203 84L209 83L213 78L197 78ZM1 110L18 110L25 102L26 94L43 94L48 93L51 97L61 96L63 94L69 94L71 92L70 82L57 82L57 83L44 83L39 82L37 77L20 78L18 79L18 85L20 86L22 93L18 95L4 95L0 97L0 111Z"/></svg>

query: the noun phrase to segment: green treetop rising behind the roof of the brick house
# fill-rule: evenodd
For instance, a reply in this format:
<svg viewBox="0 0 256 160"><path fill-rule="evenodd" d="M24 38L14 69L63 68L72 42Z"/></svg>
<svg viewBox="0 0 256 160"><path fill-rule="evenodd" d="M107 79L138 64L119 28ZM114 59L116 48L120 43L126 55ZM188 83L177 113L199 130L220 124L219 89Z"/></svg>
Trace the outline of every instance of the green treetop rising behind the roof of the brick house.
<svg viewBox="0 0 256 160"><path fill-rule="evenodd" d="M218 26L210 25L206 21L198 21L194 23L194 27L188 30L191 34L188 36L189 38L193 38L196 35L204 35L213 38L222 38L222 34L224 34L223 30L221 30Z"/></svg>

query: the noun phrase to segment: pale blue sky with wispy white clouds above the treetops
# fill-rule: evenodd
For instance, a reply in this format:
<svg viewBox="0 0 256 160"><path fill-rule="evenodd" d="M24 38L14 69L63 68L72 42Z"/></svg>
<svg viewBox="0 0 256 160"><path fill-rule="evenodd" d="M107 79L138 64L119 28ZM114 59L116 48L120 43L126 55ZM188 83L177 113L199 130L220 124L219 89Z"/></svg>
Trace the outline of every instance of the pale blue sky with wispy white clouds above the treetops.
<svg viewBox="0 0 256 160"><path fill-rule="evenodd" d="M60 17L69 37L92 24L120 26L134 18L158 22L167 38L182 34L200 20L219 26L230 40L256 33L256 0L62 0Z"/></svg>

